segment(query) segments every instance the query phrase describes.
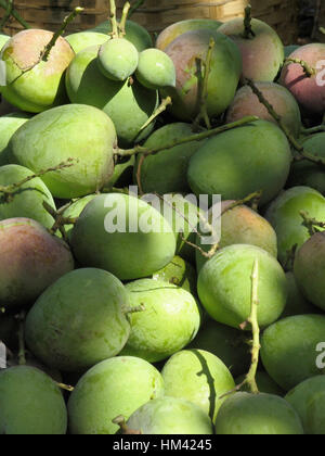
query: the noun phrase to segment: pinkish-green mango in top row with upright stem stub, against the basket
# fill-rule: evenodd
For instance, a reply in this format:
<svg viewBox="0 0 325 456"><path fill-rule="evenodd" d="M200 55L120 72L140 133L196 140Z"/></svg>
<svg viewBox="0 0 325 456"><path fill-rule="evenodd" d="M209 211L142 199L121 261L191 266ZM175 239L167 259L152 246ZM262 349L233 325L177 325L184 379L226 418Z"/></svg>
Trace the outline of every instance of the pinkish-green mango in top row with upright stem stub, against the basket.
<svg viewBox="0 0 325 456"><path fill-rule="evenodd" d="M227 21L218 31L230 37L240 50L243 59L243 77L259 83L272 83L282 68L284 61L284 46L276 34L266 23L251 20L255 36L246 39L242 17Z"/></svg>

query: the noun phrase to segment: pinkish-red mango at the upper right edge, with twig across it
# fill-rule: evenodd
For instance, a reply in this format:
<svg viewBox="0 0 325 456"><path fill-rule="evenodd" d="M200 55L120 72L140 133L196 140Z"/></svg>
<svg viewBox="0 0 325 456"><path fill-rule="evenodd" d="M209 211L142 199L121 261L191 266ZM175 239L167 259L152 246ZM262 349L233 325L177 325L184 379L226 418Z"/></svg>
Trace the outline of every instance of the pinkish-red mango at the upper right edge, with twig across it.
<svg viewBox="0 0 325 456"><path fill-rule="evenodd" d="M325 77L322 62L325 56L325 45L315 42L294 51L289 59L299 59L315 71L312 76L304 73L299 63L289 63L283 67L280 83L286 87L298 103L309 114L322 115L325 111Z"/></svg>

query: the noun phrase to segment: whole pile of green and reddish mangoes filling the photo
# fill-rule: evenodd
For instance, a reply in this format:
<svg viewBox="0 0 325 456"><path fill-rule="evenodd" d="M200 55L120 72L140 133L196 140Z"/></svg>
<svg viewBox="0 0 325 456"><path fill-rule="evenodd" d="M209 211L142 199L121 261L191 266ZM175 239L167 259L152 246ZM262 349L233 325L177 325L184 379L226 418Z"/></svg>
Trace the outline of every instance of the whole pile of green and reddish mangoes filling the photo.
<svg viewBox="0 0 325 456"><path fill-rule="evenodd" d="M0 434L325 434L325 45L114 3L0 36Z"/></svg>

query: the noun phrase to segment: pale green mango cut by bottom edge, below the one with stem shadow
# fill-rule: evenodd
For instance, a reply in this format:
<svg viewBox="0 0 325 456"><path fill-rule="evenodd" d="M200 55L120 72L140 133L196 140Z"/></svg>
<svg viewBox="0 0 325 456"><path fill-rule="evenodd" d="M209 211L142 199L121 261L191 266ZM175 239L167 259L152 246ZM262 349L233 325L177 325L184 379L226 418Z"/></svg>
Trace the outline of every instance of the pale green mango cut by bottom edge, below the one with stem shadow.
<svg viewBox="0 0 325 456"><path fill-rule="evenodd" d="M178 397L159 397L140 407L127 426L144 435L212 434L212 422L197 405Z"/></svg>

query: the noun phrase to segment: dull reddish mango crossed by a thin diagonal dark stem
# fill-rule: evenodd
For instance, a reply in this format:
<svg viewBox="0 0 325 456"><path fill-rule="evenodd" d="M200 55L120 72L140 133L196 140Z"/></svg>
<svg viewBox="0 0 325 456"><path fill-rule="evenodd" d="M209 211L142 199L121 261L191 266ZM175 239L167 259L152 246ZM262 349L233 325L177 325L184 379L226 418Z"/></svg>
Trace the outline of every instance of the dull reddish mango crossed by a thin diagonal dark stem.
<svg viewBox="0 0 325 456"><path fill-rule="evenodd" d="M275 83L256 83L256 87L282 117L288 130L298 138L302 127L301 114L299 105L289 90ZM230 124L239 121L248 115L256 115L263 121L273 122L273 124L278 125L252 92L251 88L244 86L237 91L234 101L227 110L226 123Z"/></svg>

